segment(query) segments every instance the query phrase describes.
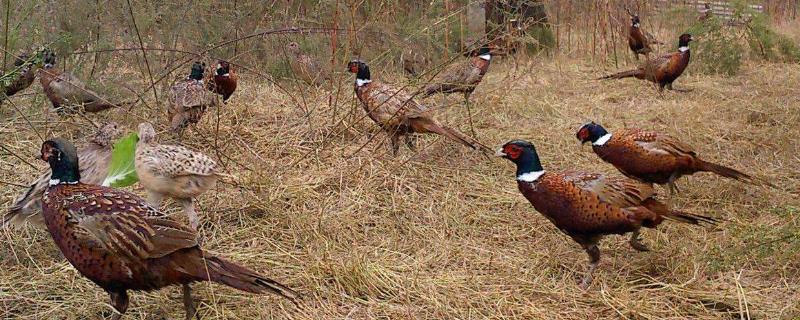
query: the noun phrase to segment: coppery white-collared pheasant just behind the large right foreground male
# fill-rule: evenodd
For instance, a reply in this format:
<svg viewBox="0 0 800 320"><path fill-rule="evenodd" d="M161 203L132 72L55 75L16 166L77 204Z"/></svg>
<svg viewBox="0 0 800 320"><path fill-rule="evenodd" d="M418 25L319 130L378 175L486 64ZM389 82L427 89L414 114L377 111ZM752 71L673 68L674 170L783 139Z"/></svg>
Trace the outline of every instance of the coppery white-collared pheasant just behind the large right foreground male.
<svg viewBox="0 0 800 320"><path fill-rule="evenodd" d="M691 146L663 133L621 129L612 134L590 122L581 126L576 136L581 143L591 142L594 153L622 174L642 182L667 184L673 193L677 191L675 180L703 171L756 184L750 175L702 160Z"/></svg>

